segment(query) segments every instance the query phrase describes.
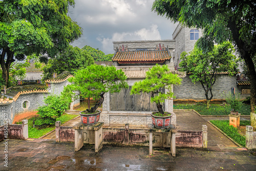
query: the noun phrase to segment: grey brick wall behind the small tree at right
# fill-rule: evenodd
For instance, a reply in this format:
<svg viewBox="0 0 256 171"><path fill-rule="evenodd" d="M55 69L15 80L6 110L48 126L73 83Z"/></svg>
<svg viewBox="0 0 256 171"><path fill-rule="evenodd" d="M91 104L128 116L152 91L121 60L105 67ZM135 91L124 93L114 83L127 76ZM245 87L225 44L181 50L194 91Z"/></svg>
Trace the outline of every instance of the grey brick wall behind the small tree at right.
<svg viewBox="0 0 256 171"><path fill-rule="evenodd" d="M231 92L231 88L236 88L236 93L241 93L241 89L236 84L236 76L230 77L227 74L218 74L212 87L213 99L223 99L223 94ZM193 83L188 75L182 78L181 85L174 86L174 95L177 99L205 99L205 92L201 83Z"/></svg>

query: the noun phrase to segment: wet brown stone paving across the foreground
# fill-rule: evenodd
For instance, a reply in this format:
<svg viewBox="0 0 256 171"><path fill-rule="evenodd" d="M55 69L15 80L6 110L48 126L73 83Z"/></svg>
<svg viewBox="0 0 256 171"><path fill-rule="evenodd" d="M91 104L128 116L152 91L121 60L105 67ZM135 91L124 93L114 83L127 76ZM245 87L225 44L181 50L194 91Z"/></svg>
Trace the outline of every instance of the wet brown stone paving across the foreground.
<svg viewBox="0 0 256 171"><path fill-rule="evenodd" d="M8 167L4 166L4 141L0 143L0 170L255 170L256 151L219 152L211 149L177 148L172 157L168 148L153 148L148 156L145 146L103 145L99 154L93 145L74 152L74 143L54 140L9 140L27 146L27 151L8 151ZM40 149L34 151L34 149ZM49 150L51 149L51 150ZM27 155L33 152L33 155Z"/></svg>

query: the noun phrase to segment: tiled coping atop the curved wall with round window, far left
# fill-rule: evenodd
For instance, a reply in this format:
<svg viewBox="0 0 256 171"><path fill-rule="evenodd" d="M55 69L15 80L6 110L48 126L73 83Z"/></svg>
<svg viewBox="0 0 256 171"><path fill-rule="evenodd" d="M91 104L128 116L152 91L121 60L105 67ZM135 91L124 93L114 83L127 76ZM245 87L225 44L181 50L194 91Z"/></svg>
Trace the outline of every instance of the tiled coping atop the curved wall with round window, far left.
<svg viewBox="0 0 256 171"><path fill-rule="evenodd" d="M19 95L31 93L48 93L48 90L44 84L10 87L6 89L6 94L1 95L0 104L12 103Z"/></svg>

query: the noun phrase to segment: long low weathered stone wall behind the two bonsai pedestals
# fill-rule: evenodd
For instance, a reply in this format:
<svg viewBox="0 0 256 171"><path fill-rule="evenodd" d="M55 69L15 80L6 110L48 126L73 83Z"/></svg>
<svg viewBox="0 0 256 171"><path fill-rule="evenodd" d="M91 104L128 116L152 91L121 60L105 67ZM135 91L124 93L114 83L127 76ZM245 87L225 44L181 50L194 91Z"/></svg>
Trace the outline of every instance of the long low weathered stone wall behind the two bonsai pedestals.
<svg viewBox="0 0 256 171"><path fill-rule="evenodd" d="M75 133L70 126L60 126L60 121L56 125L56 142L74 142ZM127 124L129 125L129 124ZM178 131L176 133L176 146L207 148L207 126L202 125L203 131ZM104 125L103 143L115 145L141 145L149 146L149 130L142 126L124 125ZM91 136L91 137L90 137ZM84 143L94 143L94 135L83 133ZM170 147L170 137L168 133L153 133L153 146Z"/></svg>

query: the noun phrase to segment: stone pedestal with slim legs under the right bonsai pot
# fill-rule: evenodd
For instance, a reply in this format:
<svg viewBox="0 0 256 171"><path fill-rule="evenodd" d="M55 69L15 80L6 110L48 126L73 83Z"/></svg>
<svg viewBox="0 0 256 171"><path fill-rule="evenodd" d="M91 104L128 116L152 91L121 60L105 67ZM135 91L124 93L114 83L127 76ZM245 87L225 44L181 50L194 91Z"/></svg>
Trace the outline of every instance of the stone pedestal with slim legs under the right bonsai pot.
<svg viewBox="0 0 256 171"><path fill-rule="evenodd" d="M150 132L150 155L153 155L153 132L154 133L167 133L167 138L170 139L170 153L172 156L176 156L176 133L177 129L176 126L171 124L168 129L156 129L153 124L149 125L149 132Z"/></svg>

